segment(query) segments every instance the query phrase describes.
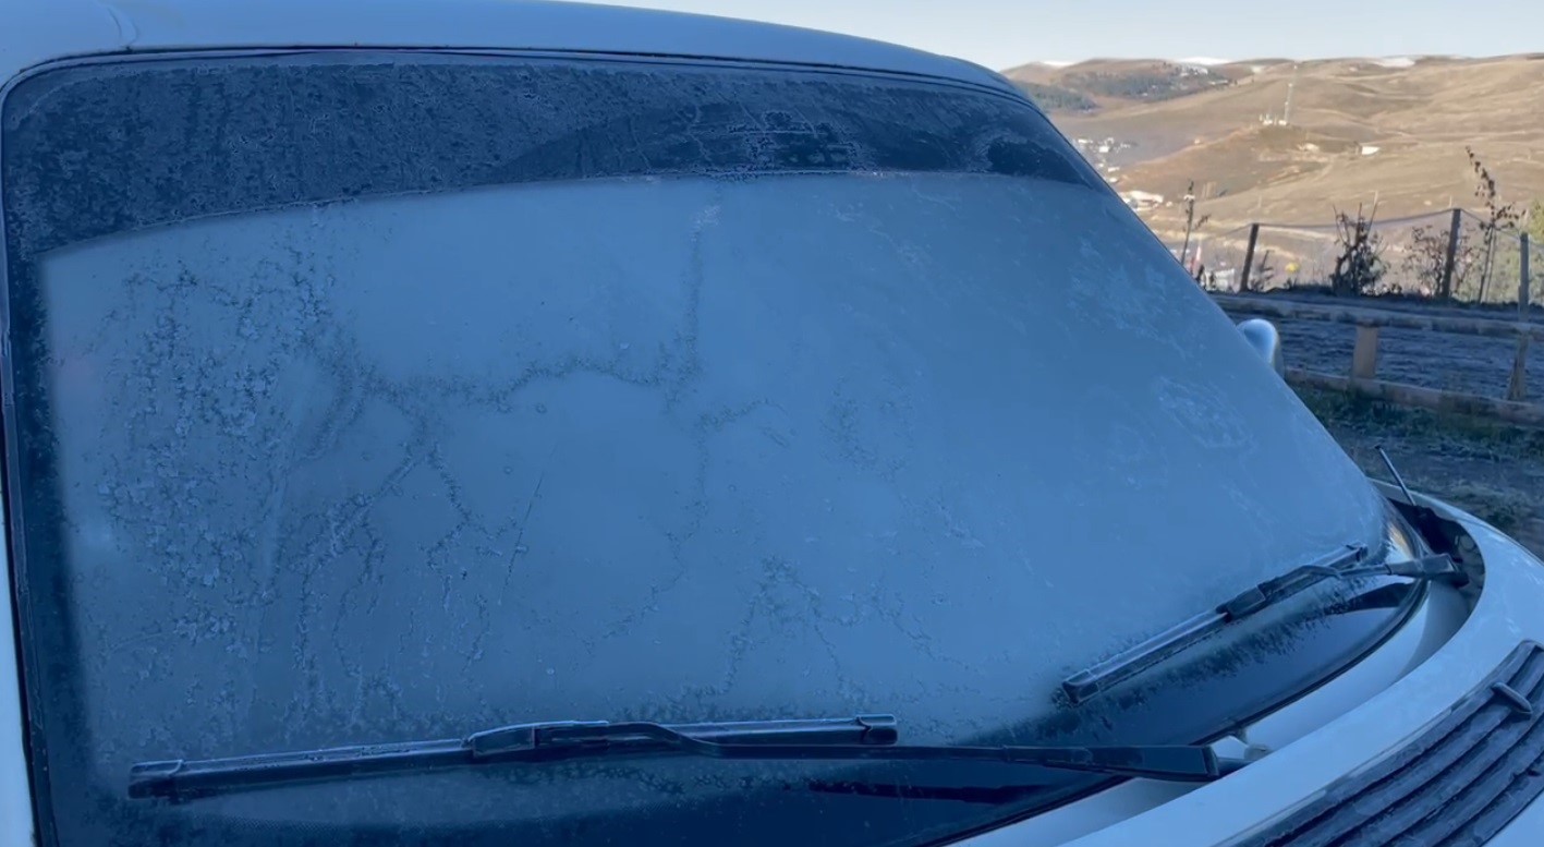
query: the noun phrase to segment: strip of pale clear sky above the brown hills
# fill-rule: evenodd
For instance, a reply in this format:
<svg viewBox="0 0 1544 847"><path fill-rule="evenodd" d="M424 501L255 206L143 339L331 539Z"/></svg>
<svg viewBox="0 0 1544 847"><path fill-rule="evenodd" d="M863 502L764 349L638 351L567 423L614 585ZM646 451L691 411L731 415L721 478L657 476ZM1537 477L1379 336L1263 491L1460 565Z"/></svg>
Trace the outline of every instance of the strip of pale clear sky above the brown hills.
<svg viewBox="0 0 1544 847"><path fill-rule="evenodd" d="M1544 0L599 0L1034 60L1544 53Z"/></svg>

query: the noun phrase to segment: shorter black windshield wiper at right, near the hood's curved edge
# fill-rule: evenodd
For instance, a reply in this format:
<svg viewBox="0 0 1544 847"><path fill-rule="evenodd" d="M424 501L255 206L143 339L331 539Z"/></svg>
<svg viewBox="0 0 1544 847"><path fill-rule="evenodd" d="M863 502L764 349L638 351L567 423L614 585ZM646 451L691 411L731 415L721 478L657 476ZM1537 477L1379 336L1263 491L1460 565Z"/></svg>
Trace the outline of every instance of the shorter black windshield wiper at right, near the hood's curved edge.
<svg viewBox="0 0 1544 847"><path fill-rule="evenodd" d="M1266 580L1234 597L1209 612L1203 612L1158 635L1092 668L1062 680L1062 691L1073 705L1126 682L1136 674L1194 646L1221 628L1248 618L1325 580L1351 580L1357 577L1407 577L1422 581L1448 581L1462 584L1467 577L1447 555L1425 556L1414 561L1363 564L1368 549L1348 546L1319 561L1288 570L1282 577Z"/></svg>

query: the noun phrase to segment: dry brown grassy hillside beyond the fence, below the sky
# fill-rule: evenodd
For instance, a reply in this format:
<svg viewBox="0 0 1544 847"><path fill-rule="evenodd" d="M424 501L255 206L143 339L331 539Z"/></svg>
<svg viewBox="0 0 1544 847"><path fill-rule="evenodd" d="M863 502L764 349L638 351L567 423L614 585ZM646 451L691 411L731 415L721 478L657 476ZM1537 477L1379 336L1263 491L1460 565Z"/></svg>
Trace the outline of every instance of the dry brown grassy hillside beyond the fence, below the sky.
<svg viewBox="0 0 1544 847"><path fill-rule="evenodd" d="M1099 59L1005 71L1119 190L1163 195L1180 219L1189 181L1214 227L1329 223L1473 206L1465 147L1504 201L1544 198L1544 54L1184 63Z"/></svg>

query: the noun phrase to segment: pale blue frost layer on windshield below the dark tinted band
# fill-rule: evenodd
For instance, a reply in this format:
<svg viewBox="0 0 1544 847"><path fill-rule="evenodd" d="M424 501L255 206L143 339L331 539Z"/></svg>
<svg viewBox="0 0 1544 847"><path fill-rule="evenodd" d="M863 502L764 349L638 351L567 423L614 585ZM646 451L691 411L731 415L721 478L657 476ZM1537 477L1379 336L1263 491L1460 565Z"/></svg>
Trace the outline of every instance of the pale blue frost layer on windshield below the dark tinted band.
<svg viewBox="0 0 1544 847"><path fill-rule="evenodd" d="M46 258L103 767L1050 709L1107 645L1363 533L1282 485L1334 445L1200 294L1122 329L1160 283L1127 226L1002 178L621 181Z"/></svg>

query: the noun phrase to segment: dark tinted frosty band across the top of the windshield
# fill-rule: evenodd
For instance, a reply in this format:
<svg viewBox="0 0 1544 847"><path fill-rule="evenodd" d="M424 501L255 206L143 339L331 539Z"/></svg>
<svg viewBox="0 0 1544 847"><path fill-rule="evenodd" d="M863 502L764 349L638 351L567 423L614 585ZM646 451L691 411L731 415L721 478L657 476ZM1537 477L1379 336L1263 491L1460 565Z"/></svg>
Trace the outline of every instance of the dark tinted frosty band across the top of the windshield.
<svg viewBox="0 0 1544 847"><path fill-rule="evenodd" d="M1027 102L817 71L165 59L36 76L3 121L23 257L207 215L551 179L960 172L1104 189Z"/></svg>

